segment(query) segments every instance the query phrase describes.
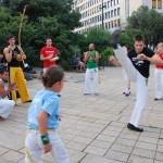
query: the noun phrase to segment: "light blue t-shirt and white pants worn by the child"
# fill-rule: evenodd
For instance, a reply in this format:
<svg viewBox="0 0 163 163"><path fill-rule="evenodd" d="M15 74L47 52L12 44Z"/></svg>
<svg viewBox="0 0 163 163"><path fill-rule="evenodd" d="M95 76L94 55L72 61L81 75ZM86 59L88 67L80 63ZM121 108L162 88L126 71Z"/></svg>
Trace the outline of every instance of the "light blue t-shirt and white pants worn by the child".
<svg viewBox="0 0 163 163"><path fill-rule="evenodd" d="M39 91L33 99L28 110L27 135L25 139L25 163L39 163L43 145L38 128L38 115L43 110L49 114L47 118L47 133L52 150L50 151L54 163L70 163L70 158L64 145L58 136L59 127L59 97L50 90Z"/></svg>

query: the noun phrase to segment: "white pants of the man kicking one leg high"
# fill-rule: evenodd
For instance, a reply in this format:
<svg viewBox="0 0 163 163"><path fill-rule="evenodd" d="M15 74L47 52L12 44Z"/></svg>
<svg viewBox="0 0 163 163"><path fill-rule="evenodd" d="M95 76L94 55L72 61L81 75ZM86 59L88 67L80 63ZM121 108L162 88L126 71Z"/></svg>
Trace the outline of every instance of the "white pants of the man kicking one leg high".
<svg viewBox="0 0 163 163"><path fill-rule="evenodd" d="M147 103L148 80L135 68L126 54L126 48L116 49L114 52L130 80L136 83L136 104L129 123L137 127L139 125L141 112Z"/></svg>

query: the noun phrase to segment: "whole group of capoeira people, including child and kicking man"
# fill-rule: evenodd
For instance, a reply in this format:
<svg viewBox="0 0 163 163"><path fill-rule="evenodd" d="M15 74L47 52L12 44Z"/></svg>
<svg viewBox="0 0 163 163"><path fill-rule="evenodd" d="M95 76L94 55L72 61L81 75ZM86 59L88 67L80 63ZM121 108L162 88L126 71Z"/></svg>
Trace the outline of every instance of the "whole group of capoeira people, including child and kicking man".
<svg viewBox="0 0 163 163"><path fill-rule="evenodd" d="M111 37L111 45L114 48L117 60L114 57L111 57L110 60L117 66L122 65L126 73L125 75L136 83L136 104L127 127L131 130L143 131L143 128L138 126L141 112L147 103L150 63L156 64L156 96L154 100L163 98L163 43L158 45L158 52L154 53L151 49L145 47L143 37L138 35L134 40L135 48L127 51L126 47L118 45L120 34L120 30L115 30ZM29 100L24 75L18 62L20 59L26 59L26 55L23 49L15 45L13 36L9 37L8 42L9 46L4 48L3 53L8 62L9 72L0 70L0 100L12 92L12 100L8 100L8 103L13 108L16 103L14 92L16 87L22 102L32 102L32 100ZM59 121L61 121L59 92L63 88L64 73L55 65L55 62L59 60L58 49L52 46L50 38L46 39L46 47L40 51L40 60L43 61L41 80L45 88L36 93L28 110L25 163L39 162L42 152L51 152L57 163L70 163L68 154L55 130L59 127ZM84 53L84 62L86 63L85 96L90 95L89 84L91 78L93 79L95 95L99 95L98 61L99 53L95 50L95 45L90 43L89 51ZM10 85L5 90L3 80L8 80L8 75L10 76ZM128 78L126 79L127 83ZM125 90L125 95L129 91ZM3 113L1 111L4 110L0 109L0 121L8 117L11 109L10 111L5 109L7 112Z"/></svg>

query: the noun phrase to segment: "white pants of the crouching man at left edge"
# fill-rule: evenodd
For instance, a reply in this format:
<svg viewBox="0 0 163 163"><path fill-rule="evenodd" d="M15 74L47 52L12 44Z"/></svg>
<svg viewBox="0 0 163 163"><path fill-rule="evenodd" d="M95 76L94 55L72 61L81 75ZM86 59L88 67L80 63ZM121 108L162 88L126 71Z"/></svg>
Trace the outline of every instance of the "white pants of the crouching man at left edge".
<svg viewBox="0 0 163 163"><path fill-rule="evenodd" d="M13 100L0 99L0 116L7 118L14 105L15 102Z"/></svg>

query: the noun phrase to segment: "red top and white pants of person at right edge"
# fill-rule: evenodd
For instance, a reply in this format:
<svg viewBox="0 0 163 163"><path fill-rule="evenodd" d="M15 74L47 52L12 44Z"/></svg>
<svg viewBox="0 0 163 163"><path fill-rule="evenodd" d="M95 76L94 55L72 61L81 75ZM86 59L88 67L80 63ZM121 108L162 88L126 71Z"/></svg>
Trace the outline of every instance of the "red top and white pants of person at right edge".
<svg viewBox="0 0 163 163"><path fill-rule="evenodd" d="M163 52L156 53L163 60ZM155 65L155 98L163 99L163 65Z"/></svg>

